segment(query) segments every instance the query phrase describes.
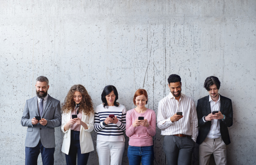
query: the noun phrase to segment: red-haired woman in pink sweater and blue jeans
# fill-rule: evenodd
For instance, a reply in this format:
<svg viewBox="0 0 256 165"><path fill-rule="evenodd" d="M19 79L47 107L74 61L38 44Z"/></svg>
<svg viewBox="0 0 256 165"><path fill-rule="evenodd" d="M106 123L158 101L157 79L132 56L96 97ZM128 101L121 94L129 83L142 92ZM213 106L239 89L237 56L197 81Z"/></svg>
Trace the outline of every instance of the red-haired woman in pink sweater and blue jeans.
<svg viewBox="0 0 256 165"><path fill-rule="evenodd" d="M153 165L153 139L156 134L156 114L145 105L148 94L138 89L133 99L136 108L127 112L126 135L129 137L128 159L130 165ZM144 119L139 119L143 117Z"/></svg>

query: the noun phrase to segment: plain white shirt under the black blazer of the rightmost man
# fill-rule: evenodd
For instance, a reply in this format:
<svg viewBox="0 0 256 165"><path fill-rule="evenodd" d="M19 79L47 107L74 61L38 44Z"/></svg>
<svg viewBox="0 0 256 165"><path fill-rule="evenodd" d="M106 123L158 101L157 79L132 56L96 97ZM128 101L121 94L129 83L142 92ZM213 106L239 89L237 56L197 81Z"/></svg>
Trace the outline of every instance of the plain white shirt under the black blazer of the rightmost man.
<svg viewBox="0 0 256 165"><path fill-rule="evenodd" d="M214 102L212 100L212 97L209 96L209 102L210 102L210 105L211 105L211 111L220 111L220 95L219 95L219 99L217 102ZM204 120L204 118L203 118ZM204 121L206 122L206 121ZM221 131L220 131L220 122L218 119L212 119L211 121L211 128L210 128L210 131L207 135L208 138L210 139L216 139L216 138L219 138L221 137Z"/></svg>

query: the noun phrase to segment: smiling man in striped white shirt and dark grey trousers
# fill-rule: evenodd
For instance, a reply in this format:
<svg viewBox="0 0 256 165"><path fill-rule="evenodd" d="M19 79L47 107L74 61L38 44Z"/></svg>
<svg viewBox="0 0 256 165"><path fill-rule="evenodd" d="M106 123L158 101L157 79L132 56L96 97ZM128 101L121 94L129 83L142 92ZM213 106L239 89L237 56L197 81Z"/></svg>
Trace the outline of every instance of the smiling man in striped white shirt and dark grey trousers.
<svg viewBox="0 0 256 165"><path fill-rule="evenodd" d="M163 138L168 165L191 165L192 151L198 135L195 102L181 93L181 78L168 78L170 93L158 105L157 126ZM177 114L177 112L180 112Z"/></svg>

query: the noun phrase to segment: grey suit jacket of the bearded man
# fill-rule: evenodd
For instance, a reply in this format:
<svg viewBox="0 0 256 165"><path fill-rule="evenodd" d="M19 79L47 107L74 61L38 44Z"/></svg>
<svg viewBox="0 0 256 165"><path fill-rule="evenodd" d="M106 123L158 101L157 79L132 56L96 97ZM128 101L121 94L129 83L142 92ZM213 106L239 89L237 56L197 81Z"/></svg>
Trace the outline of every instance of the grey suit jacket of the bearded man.
<svg viewBox="0 0 256 165"><path fill-rule="evenodd" d="M41 118L47 119L47 126L40 123L32 125L31 119L40 116L38 112L37 96L26 100L26 105L21 117L21 125L27 128L26 147L35 147L41 139L45 148L55 147L54 128L61 125L60 101L48 96Z"/></svg>

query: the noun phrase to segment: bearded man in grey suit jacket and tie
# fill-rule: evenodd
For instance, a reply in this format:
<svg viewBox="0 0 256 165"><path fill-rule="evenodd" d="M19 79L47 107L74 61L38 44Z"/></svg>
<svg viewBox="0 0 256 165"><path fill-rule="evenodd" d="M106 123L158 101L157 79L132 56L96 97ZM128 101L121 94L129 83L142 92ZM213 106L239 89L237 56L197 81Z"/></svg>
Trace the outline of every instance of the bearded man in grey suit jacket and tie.
<svg viewBox="0 0 256 165"><path fill-rule="evenodd" d="M54 164L54 128L61 125L60 102L47 94L49 80L40 76L36 79L37 96L26 100L21 125L27 128L25 141L25 164L36 165L41 152L43 165ZM35 117L41 117L36 119Z"/></svg>

